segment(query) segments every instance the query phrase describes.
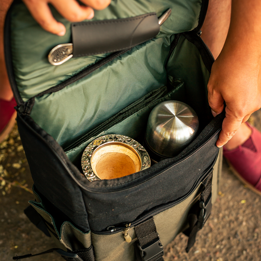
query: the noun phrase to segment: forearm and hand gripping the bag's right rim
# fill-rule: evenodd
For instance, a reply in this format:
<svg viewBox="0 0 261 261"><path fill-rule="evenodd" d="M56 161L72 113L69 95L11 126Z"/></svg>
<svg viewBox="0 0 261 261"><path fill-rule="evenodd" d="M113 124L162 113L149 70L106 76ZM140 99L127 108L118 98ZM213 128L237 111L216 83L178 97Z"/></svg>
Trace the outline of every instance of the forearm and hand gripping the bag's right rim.
<svg viewBox="0 0 261 261"><path fill-rule="evenodd" d="M261 108L261 1L232 0L231 10L227 39L208 83L214 116L222 112L226 102L218 147L225 145L241 123Z"/></svg>

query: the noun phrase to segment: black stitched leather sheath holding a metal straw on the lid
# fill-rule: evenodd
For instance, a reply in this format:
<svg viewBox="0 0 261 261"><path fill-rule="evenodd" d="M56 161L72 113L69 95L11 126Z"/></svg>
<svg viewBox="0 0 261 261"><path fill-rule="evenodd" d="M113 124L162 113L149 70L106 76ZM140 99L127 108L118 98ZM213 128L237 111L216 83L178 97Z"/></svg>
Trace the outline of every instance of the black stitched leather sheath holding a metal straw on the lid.
<svg viewBox="0 0 261 261"><path fill-rule="evenodd" d="M156 13L125 19L71 24L73 56L118 51L154 38L160 31Z"/></svg>

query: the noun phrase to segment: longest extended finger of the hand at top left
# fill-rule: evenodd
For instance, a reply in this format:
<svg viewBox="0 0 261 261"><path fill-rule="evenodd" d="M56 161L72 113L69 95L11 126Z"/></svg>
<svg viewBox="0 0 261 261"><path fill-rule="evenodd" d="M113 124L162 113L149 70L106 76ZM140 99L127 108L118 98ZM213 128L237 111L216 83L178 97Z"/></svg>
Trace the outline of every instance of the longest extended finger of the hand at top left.
<svg viewBox="0 0 261 261"><path fill-rule="evenodd" d="M47 2L41 0L24 0L24 4L27 6L32 17L43 29L59 36L65 34L65 26L54 19Z"/></svg>

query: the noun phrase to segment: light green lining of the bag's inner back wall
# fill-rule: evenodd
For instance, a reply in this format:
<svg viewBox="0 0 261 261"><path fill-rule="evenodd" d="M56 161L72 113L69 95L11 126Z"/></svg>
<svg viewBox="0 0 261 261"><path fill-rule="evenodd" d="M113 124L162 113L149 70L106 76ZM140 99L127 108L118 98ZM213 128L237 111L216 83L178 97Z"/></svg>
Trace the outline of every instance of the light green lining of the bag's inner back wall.
<svg viewBox="0 0 261 261"><path fill-rule="evenodd" d="M137 46L63 90L37 97L31 117L68 147L132 102L166 86L170 38Z"/></svg>

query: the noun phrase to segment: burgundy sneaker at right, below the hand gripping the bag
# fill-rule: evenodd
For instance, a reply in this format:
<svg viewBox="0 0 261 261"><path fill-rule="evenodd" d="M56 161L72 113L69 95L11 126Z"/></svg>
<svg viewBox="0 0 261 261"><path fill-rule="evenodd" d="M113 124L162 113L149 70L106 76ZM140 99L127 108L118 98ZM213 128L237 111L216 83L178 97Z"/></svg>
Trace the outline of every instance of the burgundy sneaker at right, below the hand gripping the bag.
<svg viewBox="0 0 261 261"><path fill-rule="evenodd" d="M261 195L261 133L247 125L252 129L250 138L235 149L224 147L224 156L239 180Z"/></svg>

